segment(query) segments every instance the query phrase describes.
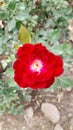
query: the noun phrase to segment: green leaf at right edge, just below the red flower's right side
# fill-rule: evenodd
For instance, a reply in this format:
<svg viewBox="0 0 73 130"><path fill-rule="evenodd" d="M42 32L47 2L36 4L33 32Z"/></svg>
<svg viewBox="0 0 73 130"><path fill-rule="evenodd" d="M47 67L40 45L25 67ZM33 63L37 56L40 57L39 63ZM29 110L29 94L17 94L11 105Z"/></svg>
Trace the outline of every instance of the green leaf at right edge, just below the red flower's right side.
<svg viewBox="0 0 73 130"><path fill-rule="evenodd" d="M73 85L73 81L70 78L64 76L60 78L59 82L62 88L72 87Z"/></svg>

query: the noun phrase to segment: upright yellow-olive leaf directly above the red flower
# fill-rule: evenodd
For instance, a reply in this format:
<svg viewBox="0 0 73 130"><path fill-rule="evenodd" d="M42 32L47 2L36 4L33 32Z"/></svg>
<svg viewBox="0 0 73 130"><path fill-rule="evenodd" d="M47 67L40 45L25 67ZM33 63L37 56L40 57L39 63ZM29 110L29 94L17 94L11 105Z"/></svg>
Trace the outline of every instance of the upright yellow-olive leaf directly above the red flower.
<svg viewBox="0 0 73 130"><path fill-rule="evenodd" d="M19 40L21 43L31 43L31 35L25 26L21 25L19 29Z"/></svg>

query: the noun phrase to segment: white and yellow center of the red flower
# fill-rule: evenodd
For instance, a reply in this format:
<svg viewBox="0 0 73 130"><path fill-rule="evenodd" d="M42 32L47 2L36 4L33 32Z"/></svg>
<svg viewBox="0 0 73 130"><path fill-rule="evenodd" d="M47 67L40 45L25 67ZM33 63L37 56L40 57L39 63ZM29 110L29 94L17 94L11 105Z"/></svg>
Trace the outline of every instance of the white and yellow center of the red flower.
<svg viewBox="0 0 73 130"><path fill-rule="evenodd" d="M42 62L40 60L35 60L32 65L31 65L31 69L34 71L34 72L38 72L40 73L40 70L42 69L43 65L42 65Z"/></svg>

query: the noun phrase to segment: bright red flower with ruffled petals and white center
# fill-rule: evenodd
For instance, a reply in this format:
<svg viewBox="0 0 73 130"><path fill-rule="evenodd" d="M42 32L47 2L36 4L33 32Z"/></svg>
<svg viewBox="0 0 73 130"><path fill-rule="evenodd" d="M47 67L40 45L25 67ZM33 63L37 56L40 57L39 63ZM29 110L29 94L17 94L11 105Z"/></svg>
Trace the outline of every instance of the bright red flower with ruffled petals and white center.
<svg viewBox="0 0 73 130"><path fill-rule="evenodd" d="M49 52L41 43L24 44L20 47L13 68L17 84L32 89L50 87L55 77L64 71L61 57Z"/></svg>

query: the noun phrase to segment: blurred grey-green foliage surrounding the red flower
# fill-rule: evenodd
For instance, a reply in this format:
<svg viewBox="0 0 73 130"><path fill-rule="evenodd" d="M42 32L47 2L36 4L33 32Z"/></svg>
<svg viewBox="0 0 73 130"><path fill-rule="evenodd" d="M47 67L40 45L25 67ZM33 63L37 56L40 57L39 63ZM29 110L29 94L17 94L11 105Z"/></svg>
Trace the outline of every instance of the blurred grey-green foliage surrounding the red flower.
<svg viewBox="0 0 73 130"><path fill-rule="evenodd" d="M73 17L73 10L67 0L4 2L0 6L0 20L3 24L3 27L0 26L0 56L6 71L0 74L0 114L8 110L16 115L24 109L24 102L31 100L31 90L20 89L13 80L12 64L17 48L22 45L18 37L21 25L30 32L32 43L42 42L47 49L63 57L67 72L73 58L72 46L68 41L68 20ZM71 87L72 81L69 77L61 76L50 89L54 91L59 85L62 88Z"/></svg>

